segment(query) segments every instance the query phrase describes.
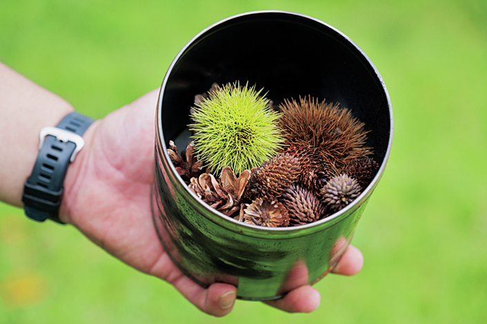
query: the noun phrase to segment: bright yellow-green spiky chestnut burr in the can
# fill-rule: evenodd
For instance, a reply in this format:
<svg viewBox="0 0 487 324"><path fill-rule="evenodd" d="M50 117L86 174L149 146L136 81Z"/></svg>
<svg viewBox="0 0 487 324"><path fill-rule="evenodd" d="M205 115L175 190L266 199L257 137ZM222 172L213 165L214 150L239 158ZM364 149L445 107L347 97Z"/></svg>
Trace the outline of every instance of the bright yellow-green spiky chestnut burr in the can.
<svg viewBox="0 0 487 324"><path fill-rule="evenodd" d="M239 82L223 85L202 99L191 114L195 152L220 174L229 166L235 174L259 166L277 154L284 142L279 113L269 108L261 91Z"/></svg>

